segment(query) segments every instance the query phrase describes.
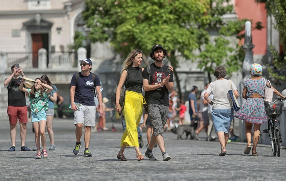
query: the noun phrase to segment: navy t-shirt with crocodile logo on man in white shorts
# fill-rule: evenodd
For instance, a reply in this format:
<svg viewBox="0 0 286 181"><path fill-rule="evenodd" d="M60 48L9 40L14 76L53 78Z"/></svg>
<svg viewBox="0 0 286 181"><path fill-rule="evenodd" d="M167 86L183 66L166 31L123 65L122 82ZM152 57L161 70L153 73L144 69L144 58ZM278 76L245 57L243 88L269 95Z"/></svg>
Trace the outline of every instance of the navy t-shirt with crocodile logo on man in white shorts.
<svg viewBox="0 0 286 181"><path fill-rule="evenodd" d="M75 81L76 74L79 74L78 82ZM95 85L93 84L93 77L91 74L83 76L81 72L73 74L71 86L75 86L75 103L81 103L84 106L95 106L94 102L94 88L100 86L100 81L95 75Z"/></svg>

